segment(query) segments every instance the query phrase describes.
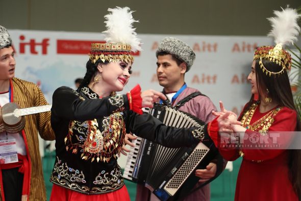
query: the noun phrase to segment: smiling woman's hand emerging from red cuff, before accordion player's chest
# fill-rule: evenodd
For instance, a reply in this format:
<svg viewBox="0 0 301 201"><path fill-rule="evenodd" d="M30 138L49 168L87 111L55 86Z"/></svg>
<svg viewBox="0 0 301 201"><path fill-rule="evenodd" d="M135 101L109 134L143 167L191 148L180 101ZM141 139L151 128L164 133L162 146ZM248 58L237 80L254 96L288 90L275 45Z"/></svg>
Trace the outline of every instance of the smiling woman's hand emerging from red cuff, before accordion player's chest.
<svg viewBox="0 0 301 201"><path fill-rule="evenodd" d="M146 90L141 93L142 107L153 108L154 103L159 102L160 99L166 100L166 96L161 92L155 90Z"/></svg>

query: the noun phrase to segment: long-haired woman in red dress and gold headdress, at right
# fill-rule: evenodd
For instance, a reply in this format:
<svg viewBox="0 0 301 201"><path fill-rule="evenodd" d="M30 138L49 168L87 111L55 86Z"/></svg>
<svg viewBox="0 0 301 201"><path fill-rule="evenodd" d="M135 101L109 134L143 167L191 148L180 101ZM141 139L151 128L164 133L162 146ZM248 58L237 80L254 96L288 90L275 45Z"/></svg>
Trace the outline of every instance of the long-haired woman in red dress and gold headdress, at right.
<svg viewBox="0 0 301 201"><path fill-rule="evenodd" d="M243 157L235 191L237 201L301 199L300 150L287 149L296 136L282 132L301 130L288 78L291 57L281 41L277 42L275 47L263 46L255 51L248 75L253 95L238 118L240 122L221 104L221 113L216 113L220 116L208 127L224 159Z"/></svg>

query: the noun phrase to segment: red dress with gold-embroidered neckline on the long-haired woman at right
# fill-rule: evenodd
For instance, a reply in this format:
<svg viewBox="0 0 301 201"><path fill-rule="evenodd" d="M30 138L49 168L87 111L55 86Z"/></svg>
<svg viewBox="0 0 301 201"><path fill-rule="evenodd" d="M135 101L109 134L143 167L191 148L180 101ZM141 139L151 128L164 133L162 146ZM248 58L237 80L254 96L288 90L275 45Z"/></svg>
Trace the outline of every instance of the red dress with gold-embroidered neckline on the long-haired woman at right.
<svg viewBox="0 0 301 201"><path fill-rule="evenodd" d="M254 131L294 131L296 128L296 111L287 107L271 109L266 113L260 113L259 107L254 105L246 111L241 120L244 126L249 126ZM247 118L249 123L247 123ZM264 127L265 126L265 127ZM248 127L247 127L248 128ZM245 135L254 131L247 129ZM214 120L209 128L210 136L217 142L217 121ZM257 133L259 133L257 132ZM260 134L264 135L264 134ZM214 137L215 136L215 137ZM292 136L280 136L282 143L290 143ZM271 139L268 139L269 143ZM288 154L286 149L244 149L219 148L224 159L236 160L243 153L243 160L237 177L235 200L236 201L298 201L289 180Z"/></svg>

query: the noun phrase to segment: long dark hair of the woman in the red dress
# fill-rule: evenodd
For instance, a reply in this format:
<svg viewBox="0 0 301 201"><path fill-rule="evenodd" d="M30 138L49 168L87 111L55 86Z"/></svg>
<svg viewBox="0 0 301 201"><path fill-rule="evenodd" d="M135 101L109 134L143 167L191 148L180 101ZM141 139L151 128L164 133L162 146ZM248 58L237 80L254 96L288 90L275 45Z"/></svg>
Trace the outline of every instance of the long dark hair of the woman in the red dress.
<svg viewBox="0 0 301 201"><path fill-rule="evenodd" d="M280 72L282 70L282 66L269 61L262 59L262 63L265 68L270 72ZM281 74L271 74L266 75L266 71L260 68L259 60L256 60L255 64L255 71L256 71L256 82L258 87L258 94L260 100L260 91L266 90L269 91L269 97L275 102L278 102L280 106L286 106L290 109L293 109L297 112L296 107L294 105L293 95L291 91L291 86L288 78L288 74L286 70ZM238 120L241 120L243 114L248 110L250 105L254 103L254 95L252 95L250 101L247 103L244 111L241 113L241 116ZM298 113L297 113L298 114ZM301 130L301 124L299 116L297 115L297 125L296 131ZM289 150L289 174L290 180L292 182L293 188L301 199L301 150L293 149Z"/></svg>

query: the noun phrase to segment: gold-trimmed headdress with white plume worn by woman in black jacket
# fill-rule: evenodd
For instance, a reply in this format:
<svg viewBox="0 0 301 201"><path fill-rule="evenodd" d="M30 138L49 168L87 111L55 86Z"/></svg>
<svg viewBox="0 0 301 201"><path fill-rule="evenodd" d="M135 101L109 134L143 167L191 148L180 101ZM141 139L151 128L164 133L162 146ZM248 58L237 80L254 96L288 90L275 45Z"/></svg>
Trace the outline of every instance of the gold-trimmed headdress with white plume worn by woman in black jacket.
<svg viewBox="0 0 301 201"><path fill-rule="evenodd" d="M132 62L133 52L141 50L140 39L137 38L133 23L138 22L132 16L134 11L130 8L116 7L109 8L109 14L105 15L107 30L106 43L92 43L90 51L90 60L95 63L98 59L103 62Z"/></svg>

